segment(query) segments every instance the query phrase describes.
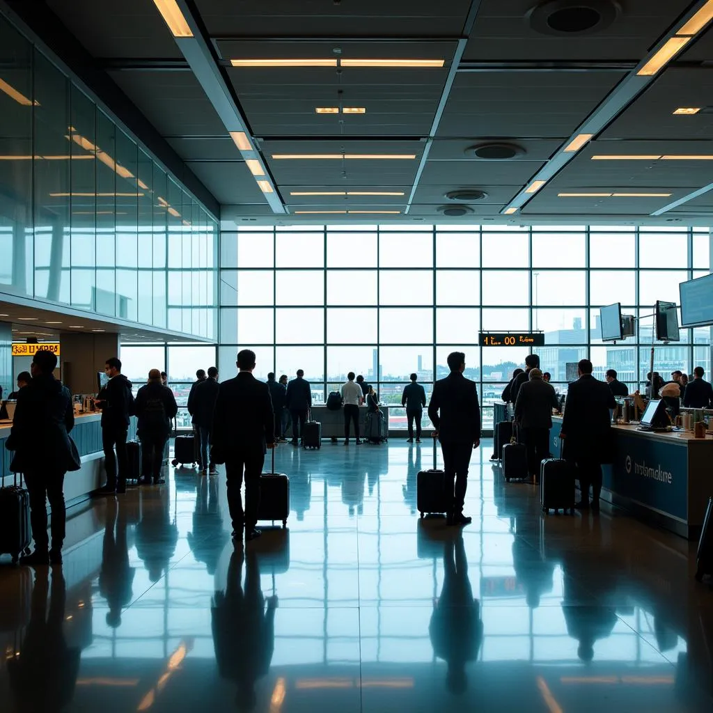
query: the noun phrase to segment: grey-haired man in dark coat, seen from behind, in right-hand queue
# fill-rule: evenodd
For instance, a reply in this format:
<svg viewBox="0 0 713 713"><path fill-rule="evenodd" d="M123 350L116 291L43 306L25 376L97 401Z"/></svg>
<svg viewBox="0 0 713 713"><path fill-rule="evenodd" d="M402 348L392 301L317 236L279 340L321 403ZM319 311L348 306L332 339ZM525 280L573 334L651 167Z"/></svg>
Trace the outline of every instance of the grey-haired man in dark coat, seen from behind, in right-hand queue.
<svg viewBox="0 0 713 713"><path fill-rule="evenodd" d="M530 369L530 381L518 391L515 421L528 451L528 471L534 480L540 472L540 463L549 456L552 409L559 406L554 386L543 379L540 369Z"/></svg>

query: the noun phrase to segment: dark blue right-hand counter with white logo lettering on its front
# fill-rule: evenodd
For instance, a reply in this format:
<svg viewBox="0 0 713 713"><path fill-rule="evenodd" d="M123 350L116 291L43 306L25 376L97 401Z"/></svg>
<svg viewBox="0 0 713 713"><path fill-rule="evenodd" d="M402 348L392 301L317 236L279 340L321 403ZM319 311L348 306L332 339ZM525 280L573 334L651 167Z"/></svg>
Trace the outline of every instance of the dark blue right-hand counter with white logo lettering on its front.
<svg viewBox="0 0 713 713"><path fill-rule="evenodd" d="M550 451L559 456L562 418L552 421ZM615 458L602 466L602 500L689 540L698 538L713 496L713 436L639 431L636 425L612 430Z"/></svg>

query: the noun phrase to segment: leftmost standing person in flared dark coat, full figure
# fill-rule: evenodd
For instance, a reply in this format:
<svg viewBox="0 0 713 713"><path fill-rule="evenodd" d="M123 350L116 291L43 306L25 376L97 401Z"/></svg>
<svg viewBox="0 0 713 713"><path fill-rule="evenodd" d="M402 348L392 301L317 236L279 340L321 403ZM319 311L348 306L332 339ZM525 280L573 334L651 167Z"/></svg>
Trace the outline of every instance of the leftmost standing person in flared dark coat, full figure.
<svg viewBox="0 0 713 713"><path fill-rule="evenodd" d="M69 432L74 427L72 398L54 378L57 356L39 349L32 358L32 380L17 396L10 435L5 442L15 451L13 473L24 473L30 496L30 520L35 550L21 558L25 565L62 563L65 535L64 476L78 471L81 462ZM52 548L47 536L46 499L52 508Z"/></svg>

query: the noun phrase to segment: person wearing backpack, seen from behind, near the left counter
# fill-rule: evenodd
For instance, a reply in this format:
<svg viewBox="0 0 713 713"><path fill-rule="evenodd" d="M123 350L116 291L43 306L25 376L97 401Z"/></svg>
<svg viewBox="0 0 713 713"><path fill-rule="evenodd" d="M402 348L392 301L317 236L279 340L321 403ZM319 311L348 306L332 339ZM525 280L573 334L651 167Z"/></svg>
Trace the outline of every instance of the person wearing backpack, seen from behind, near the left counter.
<svg viewBox="0 0 713 713"><path fill-rule="evenodd" d="M151 369L148 372L148 383L142 386L136 394L134 414L138 417L137 434L141 441L141 471L143 485L163 485L161 478L161 461L163 461L163 446L170 434L171 420L178 414L173 391L164 386L161 372Z"/></svg>

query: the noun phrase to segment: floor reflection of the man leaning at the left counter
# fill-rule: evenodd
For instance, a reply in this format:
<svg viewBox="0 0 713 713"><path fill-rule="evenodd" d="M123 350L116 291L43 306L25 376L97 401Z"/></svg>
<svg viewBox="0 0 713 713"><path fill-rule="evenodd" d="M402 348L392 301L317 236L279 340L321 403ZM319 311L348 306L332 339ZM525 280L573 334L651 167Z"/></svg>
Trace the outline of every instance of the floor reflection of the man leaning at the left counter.
<svg viewBox="0 0 713 713"><path fill-rule="evenodd" d="M123 507L123 503L119 505L114 498L108 499L106 508L99 593L106 599L109 607L106 623L112 629L116 629L121 624L121 610L128 605L133 596L133 578L136 570L129 565L126 541L127 509Z"/></svg>

